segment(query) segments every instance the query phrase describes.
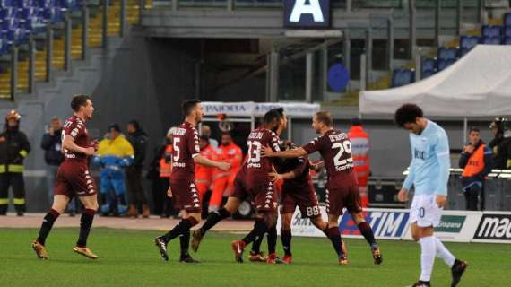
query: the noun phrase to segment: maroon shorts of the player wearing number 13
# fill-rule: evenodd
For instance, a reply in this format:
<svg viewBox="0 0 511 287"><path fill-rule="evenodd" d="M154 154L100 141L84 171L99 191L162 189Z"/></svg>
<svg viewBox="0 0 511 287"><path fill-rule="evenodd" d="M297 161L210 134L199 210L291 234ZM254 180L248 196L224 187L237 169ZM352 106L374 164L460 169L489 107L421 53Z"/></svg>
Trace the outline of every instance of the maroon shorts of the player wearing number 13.
<svg viewBox="0 0 511 287"><path fill-rule="evenodd" d="M273 182L265 182L255 187L247 188L241 178L234 180L233 191L230 197L245 199L250 197L252 205L257 213L275 212L277 207L277 196L275 194Z"/></svg>

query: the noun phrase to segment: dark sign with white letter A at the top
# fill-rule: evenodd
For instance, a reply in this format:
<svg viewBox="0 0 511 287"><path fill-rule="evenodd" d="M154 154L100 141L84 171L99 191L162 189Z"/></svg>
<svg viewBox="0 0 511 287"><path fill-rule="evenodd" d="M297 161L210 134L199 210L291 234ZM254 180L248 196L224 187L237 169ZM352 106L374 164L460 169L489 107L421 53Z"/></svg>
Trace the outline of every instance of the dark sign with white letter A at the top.
<svg viewBox="0 0 511 287"><path fill-rule="evenodd" d="M284 0L284 27L327 28L330 0Z"/></svg>

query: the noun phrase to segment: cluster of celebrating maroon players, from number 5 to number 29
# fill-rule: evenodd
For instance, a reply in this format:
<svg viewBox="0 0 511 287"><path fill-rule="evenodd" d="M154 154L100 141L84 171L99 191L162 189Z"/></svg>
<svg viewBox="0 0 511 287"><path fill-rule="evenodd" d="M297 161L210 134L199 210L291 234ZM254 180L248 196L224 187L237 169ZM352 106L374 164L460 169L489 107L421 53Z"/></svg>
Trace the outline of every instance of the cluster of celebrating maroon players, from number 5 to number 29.
<svg viewBox="0 0 511 287"><path fill-rule="evenodd" d="M201 220L201 203L195 185L195 164L229 170L226 162L212 161L200 154L199 134L195 126L201 122L203 111L199 100L186 100L183 103L185 121L172 135L174 153L172 157L172 176L169 196L173 196L178 207L183 211L181 222L168 233L155 239L160 255L168 260L167 245L170 240L178 238L181 243L182 262L196 262L188 253L190 229ZM282 143L279 135L286 129L287 119L283 109L271 109L264 115L264 123L253 130L247 138L247 161L238 170L234 179L233 190L227 203L218 211L208 214L204 225L193 232L192 248L197 251L207 230L216 223L230 217L238 210L243 199L249 197L257 212L254 229L244 239L232 242L235 258L243 262L245 247L254 243L250 254L251 260L268 263L287 263L292 261L290 221L296 207L302 217L308 217L313 224L332 241L339 264L348 264L345 248L339 231L338 219L344 207L352 214L359 230L368 241L375 264L382 262L373 231L365 222L360 207L357 179L351 158L351 143L348 136L333 129L333 121L328 112L316 113L313 128L319 137L298 148L292 143ZM328 173L326 193L326 213L328 222L322 220L316 192L312 185L309 170L313 168L307 160L307 154L320 152ZM277 230L277 195L274 181L283 179L281 194L281 240L285 256L277 258L275 252ZM268 235L267 258L260 252L259 246L264 234Z"/></svg>

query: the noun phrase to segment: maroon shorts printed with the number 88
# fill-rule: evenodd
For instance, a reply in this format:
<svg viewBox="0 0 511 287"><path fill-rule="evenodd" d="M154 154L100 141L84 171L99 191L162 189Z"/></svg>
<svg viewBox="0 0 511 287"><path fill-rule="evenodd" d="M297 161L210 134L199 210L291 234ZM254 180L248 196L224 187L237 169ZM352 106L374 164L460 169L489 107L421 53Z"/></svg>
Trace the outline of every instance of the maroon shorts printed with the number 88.
<svg viewBox="0 0 511 287"><path fill-rule="evenodd" d="M314 187L290 187L284 185L282 188L281 213L295 213L297 206L302 218L321 216Z"/></svg>

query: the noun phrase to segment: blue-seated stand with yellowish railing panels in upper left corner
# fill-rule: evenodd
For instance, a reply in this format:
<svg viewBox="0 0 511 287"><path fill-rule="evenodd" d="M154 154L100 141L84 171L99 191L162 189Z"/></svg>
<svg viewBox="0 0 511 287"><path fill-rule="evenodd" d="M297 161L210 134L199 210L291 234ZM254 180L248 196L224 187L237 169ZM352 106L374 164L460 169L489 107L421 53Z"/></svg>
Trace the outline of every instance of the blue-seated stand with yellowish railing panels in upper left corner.
<svg viewBox="0 0 511 287"><path fill-rule="evenodd" d="M85 59L88 48L107 48L108 36L124 36L126 6L127 0L0 0L0 98L30 93L56 69L69 70L73 58Z"/></svg>

